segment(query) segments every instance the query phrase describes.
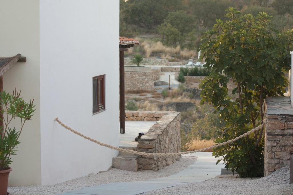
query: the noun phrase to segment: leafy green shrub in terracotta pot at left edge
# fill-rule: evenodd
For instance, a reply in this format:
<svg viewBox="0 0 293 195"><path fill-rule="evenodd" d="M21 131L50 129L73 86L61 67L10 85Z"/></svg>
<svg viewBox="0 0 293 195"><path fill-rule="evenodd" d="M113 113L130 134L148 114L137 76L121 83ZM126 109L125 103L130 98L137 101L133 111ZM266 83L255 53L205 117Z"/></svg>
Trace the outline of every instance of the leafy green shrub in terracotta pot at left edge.
<svg viewBox="0 0 293 195"><path fill-rule="evenodd" d="M12 171L9 165L12 155L17 151L19 136L26 121L31 120L35 112L33 101L26 102L20 97L20 91L9 94L0 92L0 195L6 195L8 188L8 174ZM21 123L20 129L11 128L11 122ZM15 122L13 124L15 124Z"/></svg>

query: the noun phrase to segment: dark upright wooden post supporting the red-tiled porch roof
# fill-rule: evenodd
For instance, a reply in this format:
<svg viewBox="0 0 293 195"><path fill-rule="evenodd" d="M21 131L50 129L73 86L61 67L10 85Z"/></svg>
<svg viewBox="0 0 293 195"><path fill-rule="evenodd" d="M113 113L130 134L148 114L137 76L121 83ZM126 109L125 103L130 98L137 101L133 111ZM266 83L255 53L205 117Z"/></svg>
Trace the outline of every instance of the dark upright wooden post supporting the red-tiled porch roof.
<svg viewBox="0 0 293 195"><path fill-rule="evenodd" d="M124 51L119 51L120 73L120 133L125 133Z"/></svg>

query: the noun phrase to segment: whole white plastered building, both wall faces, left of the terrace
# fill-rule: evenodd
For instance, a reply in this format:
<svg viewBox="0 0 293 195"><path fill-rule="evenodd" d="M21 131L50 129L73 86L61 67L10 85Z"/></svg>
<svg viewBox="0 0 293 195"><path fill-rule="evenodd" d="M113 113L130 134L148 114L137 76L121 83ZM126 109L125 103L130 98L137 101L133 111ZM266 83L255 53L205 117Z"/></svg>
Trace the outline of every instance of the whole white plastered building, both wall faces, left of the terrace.
<svg viewBox="0 0 293 195"><path fill-rule="evenodd" d="M54 118L119 145L119 1L0 0L0 24L0 56L27 58L4 74L4 90L21 89L36 105L13 156L10 185L56 184L109 169L117 151ZM105 90L97 89L100 75ZM94 90L105 92L99 105Z"/></svg>

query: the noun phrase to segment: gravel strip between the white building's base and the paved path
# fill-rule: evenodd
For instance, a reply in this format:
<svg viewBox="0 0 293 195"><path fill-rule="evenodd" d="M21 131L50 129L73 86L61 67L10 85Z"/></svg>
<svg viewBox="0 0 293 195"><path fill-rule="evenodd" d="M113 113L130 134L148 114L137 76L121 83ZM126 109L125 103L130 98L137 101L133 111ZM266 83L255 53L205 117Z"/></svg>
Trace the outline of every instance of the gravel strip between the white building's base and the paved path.
<svg viewBox="0 0 293 195"><path fill-rule="evenodd" d="M72 179L70 181L43 186L19 186L9 187L8 191L13 195L52 195L65 191L71 191L83 187L95 186L114 182L134 182L167 177L182 171L185 167L196 161L196 157L182 157L178 162L165 167L157 172L150 170L132 172L120 169L110 169L98 174L90 174L86 177Z"/></svg>

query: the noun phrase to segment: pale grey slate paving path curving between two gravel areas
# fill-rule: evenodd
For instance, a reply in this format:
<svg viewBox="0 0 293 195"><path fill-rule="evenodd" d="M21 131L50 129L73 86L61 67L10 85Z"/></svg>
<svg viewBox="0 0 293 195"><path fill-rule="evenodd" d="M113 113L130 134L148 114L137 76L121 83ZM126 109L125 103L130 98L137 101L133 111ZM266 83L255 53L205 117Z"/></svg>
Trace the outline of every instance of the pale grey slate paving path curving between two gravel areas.
<svg viewBox="0 0 293 195"><path fill-rule="evenodd" d="M64 192L58 195L136 195L180 184L202 182L207 179L212 179L221 174L221 169L224 168L222 163L216 165L218 159L212 157L212 152L197 152L184 156L197 157L197 160L192 165L186 167L183 171L168 177L140 182L102 184Z"/></svg>

